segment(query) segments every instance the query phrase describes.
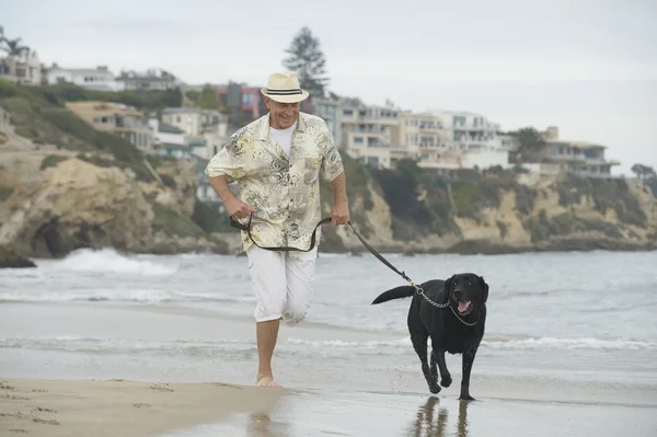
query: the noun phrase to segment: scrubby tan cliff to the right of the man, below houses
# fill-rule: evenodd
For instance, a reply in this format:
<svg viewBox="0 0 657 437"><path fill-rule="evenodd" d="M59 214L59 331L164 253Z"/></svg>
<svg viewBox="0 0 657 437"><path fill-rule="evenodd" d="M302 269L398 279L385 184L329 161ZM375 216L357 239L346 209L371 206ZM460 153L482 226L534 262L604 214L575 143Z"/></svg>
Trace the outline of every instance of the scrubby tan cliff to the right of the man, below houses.
<svg viewBox="0 0 657 437"><path fill-rule="evenodd" d="M657 198L647 187L622 179L499 168L442 176L410 161L394 171L350 170L357 229L385 250L492 254L657 249ZM324 199L330 198L325 193ZM328 211L325 203L324 214ZM333 250L361 250L346 228L328 232Z"/></svg>

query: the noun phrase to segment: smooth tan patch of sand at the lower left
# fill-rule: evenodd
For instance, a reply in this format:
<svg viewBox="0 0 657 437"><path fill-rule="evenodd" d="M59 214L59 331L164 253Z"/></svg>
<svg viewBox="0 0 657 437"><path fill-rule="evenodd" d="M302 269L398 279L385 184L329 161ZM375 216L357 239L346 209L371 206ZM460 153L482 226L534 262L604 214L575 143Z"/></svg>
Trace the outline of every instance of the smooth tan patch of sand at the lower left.
<svg viewBox="0 0 657 437"><path fill-rule="evenodd" d="M223 383L3 380L0 435L158 436L233 413L264 414L283 393Z"/></svg>

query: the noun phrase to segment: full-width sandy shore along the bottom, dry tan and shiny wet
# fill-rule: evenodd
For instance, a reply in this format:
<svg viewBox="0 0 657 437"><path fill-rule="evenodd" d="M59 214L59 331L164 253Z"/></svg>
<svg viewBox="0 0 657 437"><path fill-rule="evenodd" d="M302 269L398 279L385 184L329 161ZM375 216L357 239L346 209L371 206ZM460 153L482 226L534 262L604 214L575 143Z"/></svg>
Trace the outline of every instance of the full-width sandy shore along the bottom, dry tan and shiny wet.
<svg viewBox="0 0 657 437"><path fill-rule="evenodd" d="M286 390L223 383L3 380L0 435L650 436L657 404L420 393Z"/></svg>

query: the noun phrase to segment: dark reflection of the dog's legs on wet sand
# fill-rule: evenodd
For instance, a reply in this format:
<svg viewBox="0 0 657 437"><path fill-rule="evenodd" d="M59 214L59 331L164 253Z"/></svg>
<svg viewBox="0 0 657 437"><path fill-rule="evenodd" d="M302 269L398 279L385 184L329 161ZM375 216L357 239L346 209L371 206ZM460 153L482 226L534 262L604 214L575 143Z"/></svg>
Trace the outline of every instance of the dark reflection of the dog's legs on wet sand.
<svg viewBox="0 0 657 437"><path fill-rule="evenodd" d="M468 401L459 401L459 423L457 436L468 437ZM408 427L407 436L442 437L447 436L448 410L440 405L440 398L431 396L418 409L415 421ZM436 415L436 409L437 417ZM449 433L449 435L453 435Z"/></svg>

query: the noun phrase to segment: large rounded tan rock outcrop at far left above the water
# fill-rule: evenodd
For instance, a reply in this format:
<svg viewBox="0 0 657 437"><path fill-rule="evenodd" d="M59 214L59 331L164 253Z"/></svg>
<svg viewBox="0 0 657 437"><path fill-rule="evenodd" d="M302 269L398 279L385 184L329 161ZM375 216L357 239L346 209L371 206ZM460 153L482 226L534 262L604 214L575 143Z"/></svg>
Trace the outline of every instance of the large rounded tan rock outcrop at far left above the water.
<svg viewBox="0 0 657 437"><path fill-rule="evenodd" d="M152 208L119 168L70 159L44 172L36 186L14 192L4 208L0 244L22 253L64 256L80 248L130 251L147 245Z"/></svg>

